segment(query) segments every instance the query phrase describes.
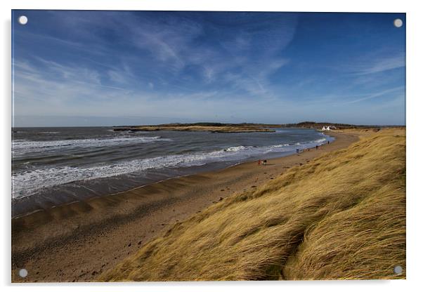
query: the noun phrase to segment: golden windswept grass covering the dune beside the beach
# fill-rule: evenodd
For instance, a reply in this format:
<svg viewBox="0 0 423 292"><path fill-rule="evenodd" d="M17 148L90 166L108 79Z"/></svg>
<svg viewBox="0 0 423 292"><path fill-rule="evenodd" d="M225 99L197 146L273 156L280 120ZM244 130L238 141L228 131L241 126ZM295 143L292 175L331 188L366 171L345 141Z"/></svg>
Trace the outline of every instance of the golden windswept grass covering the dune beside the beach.
<svg viewBox="0 0 423 292"><path fill-rule="evenodd" d="M393 128L210 206L99 280L404 278L405 129Z"/></svg>

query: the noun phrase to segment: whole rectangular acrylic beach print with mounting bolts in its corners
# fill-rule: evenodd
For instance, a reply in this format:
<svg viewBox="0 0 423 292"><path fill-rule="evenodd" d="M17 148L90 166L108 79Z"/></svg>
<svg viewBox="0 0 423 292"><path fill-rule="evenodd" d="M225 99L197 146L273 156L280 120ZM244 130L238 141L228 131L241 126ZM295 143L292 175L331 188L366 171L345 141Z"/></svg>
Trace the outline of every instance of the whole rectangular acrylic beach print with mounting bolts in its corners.
<svg viewBox="0 0 423 292"><path fill-rule="evenodd" d="M11 21L13 282L405 279L405 13Z"/></svg>

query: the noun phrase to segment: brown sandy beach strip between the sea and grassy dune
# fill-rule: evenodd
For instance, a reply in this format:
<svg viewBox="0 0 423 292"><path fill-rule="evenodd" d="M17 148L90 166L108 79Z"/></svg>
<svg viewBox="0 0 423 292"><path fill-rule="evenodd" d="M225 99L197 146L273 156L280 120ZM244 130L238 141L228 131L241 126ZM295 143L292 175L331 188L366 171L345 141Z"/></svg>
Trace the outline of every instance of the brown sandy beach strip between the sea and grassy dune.
<svg viewBox="0 0 423 292"><path fill-rule="evenodd" d="M15 218L12 281L92 281L174 223L358 140L354 133L330 135L336 140L319 150L268 159L266 166L246 162ZM28 271L23 279L21 268Z"/></svg>

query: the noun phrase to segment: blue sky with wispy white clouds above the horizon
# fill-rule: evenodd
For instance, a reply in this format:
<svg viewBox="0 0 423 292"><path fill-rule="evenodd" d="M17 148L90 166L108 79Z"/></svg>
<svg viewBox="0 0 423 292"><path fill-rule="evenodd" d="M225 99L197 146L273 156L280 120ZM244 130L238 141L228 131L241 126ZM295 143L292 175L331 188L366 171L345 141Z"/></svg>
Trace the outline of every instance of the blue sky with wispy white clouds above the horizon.
<svg viewBox="0 0 423 292"><path fill-rule="evenodd" d="M14 126L405 125L405 13L15 10L12 23Z"/></svg>

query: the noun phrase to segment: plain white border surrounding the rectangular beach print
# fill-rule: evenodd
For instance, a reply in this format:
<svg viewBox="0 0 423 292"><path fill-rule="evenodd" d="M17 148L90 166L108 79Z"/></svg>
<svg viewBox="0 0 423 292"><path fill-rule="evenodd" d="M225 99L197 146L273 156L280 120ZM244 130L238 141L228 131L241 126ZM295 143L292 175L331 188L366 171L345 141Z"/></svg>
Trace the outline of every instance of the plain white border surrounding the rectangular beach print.
<svg viewBox="0 0 423 292"><path fill-rule="evenodd" d="M1 242L1 283L6 289L31 291L74 291L74 286L24 285L9 284L10 276L10 191L11 191L11 9L89 9L89 10L194 10L194 11L334 11L334 12L403 12L407 13L407 280L405 281L300 281L300 282L206 282L206 283L167 283L167 284L124 284L123 287L131 291L231 291L236 288L242 291L256 291L265 288L269 291L295 289L295 291L356 291L357 289L383 289L384 291L399 291L416 288L419 285L422 272L422 234L419 233L422 223L423 192L419 188L419 163L422 162L422 28L423 15L418 7L418 1L247 1L247 0L14 0L1 1L1 199L3 212L3 235ZM420 151L419 151L420 150ZM115 291L122 285L76 284L81 291Z"/></svg>

